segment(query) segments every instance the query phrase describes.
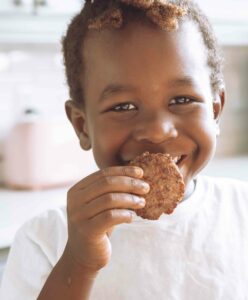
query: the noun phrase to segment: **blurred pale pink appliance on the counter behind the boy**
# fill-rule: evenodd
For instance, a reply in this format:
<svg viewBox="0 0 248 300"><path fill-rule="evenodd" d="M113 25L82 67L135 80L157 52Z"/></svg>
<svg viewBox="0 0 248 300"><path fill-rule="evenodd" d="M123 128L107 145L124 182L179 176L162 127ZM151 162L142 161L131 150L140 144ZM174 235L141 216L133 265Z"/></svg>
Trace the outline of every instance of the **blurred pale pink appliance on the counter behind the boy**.
<svg viewBox="0 0 248 300"><path fill-rule="evenodd" d="M12 128L4 149L4 183L15 189L64 186L96 169L65 119L27 116Z"/></svg>

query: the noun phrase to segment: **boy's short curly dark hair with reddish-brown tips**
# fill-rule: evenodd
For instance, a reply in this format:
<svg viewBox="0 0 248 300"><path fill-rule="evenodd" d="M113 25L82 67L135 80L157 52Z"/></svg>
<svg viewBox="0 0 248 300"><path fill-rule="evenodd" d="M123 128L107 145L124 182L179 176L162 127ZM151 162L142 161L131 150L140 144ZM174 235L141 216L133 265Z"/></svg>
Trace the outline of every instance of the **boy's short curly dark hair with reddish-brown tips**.
<svg viewBox="0 0 248 300"><path fill-rule="evenodd" d="M212 26L191 0L86 0L81 12L68 26L62 46L70 97L84 104L84 62L82 49L89 30L123 28L130 21L145 21L166 31L177 30L180 21L191 20L199 28L208 53L213 94L224 83L223 56Z"/></svg>

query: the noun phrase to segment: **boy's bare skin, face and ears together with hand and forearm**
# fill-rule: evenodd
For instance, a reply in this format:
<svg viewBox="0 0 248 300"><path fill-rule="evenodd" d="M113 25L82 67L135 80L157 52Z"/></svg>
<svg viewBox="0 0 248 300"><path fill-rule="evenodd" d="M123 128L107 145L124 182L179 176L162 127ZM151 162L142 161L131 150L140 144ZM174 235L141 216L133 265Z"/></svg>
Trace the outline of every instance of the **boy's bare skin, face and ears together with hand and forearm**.
<svg viewBox="0 0 248 300"><path fill-rule="evenodd" d="M178 166L186 194L192 192L215 152L224 105L224 90L212 94L205 46L190 22L178 32L142 23L91 31L82 55L85 106L68 101L66 112L100 171L68 192L68 242L39 300L89 299L111 258L111 230L130 223L131 210L143 207L149 192L142 170L126 166L135 156L182 155Z"/></svg>

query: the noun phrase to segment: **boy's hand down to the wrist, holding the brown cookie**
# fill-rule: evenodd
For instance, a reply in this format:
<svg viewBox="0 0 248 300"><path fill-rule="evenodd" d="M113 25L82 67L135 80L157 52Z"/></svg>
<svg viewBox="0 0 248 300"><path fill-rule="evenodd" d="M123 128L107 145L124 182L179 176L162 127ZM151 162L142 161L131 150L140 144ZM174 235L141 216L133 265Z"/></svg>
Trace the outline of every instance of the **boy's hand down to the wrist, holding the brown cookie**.
<svg viewBox="0 0 248 300"><path fill-rule="evenodd" d="M139 179L142 176L138 167L110 167L69 190L67 250L74 262L92 271L109 262L108 233L113 226L132 221L130 209L145 205L141 195L149 192L149 185Z"/></svg>

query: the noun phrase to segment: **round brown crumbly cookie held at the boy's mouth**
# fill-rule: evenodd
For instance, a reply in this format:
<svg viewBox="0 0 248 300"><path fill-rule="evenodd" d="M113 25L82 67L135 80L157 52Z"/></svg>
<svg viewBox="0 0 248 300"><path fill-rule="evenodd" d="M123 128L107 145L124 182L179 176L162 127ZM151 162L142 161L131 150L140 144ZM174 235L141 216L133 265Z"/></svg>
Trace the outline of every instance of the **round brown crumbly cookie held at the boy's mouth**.
<svg viewBox="0 0 248 300"><path fill-rule="evenodd" d="M169 154L145 152L130 162L141 167L143 179L150 184L144 196L146 206L135 210L143 219L157 220L163 213L171 214L184 195L183 177Z"/></svg>

